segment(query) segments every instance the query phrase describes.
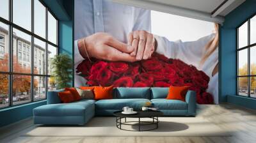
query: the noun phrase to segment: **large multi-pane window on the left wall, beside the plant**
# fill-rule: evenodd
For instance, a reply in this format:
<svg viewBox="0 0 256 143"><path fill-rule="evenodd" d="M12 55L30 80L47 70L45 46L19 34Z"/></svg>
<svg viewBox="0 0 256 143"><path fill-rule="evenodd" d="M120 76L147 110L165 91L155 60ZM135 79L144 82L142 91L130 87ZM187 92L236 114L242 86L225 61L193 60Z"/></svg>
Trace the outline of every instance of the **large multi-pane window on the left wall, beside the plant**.
<svg viewBox="0 0 256 143"><path fill-rule="evenodd" d="M0 0L0 109L45 100L55 88L47 67L58 54L58 20L43 1L11 2Z"/></svg>

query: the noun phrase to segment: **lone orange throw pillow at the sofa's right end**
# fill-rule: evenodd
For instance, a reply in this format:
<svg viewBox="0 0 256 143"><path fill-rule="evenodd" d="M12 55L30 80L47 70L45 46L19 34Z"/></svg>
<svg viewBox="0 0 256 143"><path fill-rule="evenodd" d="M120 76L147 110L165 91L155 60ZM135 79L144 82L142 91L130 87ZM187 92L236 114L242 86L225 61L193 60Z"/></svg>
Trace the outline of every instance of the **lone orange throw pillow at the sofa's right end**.
<svg viewBox="0 0 256 143"><path fill-rule="evenodd" d="M189 86L170 86L167 100L182 100L185 102Z"/></svg>

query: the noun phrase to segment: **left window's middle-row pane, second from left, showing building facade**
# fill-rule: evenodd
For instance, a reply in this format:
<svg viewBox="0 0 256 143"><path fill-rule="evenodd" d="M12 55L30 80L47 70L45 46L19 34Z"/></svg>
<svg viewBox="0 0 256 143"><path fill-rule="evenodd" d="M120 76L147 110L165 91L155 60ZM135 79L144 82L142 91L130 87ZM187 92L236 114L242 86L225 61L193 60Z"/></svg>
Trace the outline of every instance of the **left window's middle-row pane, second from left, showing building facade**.
<svg viewBox="0 0 256 143"><path fill-rule="evenodd" d="M13 72L31 73L31 36L13 28Z"/></svg>

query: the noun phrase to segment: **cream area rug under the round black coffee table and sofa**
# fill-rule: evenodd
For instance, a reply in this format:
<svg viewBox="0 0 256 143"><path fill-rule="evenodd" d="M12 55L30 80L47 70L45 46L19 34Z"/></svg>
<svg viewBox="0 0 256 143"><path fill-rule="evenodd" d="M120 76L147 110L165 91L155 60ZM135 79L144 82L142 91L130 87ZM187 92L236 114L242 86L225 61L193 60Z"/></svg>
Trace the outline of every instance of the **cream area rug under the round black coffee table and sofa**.
<svg viewBox="0 0 256 143"><path fill-rule="evenodd" d="M146 119L147 120L147 119ZM124 121L124 120L123 120ZM136 119L127 119L136 121ZM93 117L84 126L36 126L23 136L80 137L80 136L230 136L229 131L221 129L202 117L159 117L159 127L145 132L131 132L116 128L115 117ZM135 123L136 124L136 123ZM143 130L154 126L143 126ZM138 126L126 126L126 130L138 130Z"/></svg>

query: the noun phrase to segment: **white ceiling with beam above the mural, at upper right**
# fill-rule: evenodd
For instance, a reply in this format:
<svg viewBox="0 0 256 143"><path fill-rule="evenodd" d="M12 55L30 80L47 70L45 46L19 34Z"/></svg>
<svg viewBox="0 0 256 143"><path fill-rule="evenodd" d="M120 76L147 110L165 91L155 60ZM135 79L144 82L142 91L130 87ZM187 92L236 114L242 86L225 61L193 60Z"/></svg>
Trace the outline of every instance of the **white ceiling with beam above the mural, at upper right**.
<svg viewBox="0 0 256 143"><path fill-rule="evenodd" d="M112 0L149 10L222 24L224 17L245 0ZM214 10L225 2L215 13Z"/></svg>

